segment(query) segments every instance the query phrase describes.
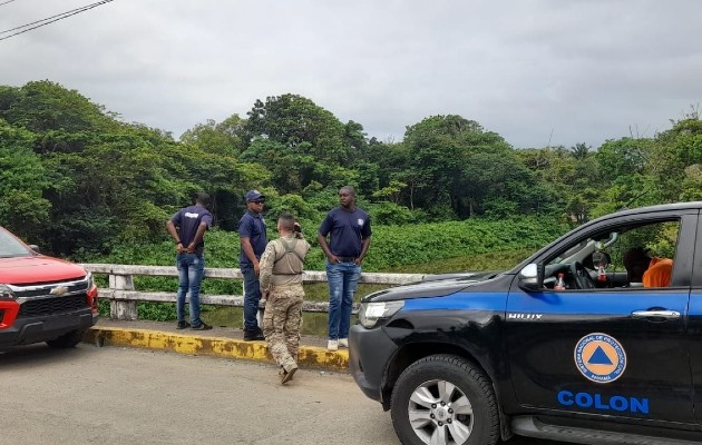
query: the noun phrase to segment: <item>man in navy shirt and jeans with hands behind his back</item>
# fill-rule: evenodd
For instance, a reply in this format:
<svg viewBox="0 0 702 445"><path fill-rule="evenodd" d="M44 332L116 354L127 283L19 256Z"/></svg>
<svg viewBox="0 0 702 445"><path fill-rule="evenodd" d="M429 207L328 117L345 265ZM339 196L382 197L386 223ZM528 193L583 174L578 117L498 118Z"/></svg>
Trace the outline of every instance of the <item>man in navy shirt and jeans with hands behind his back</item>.
<svg viewBox="0 0 702 445"><path fill-rule="evenodd" d="M199 318L199 285L205 275L205 230L212 226L212 214L207 210L209 196L195 195L194 204L178 210L166 222L166 229L176 244L176 267L178 268L178 294L176 316L178 329L191 327L197 330L212 329ZM191 323L185 320L185 296L191 293Z"/></svg>

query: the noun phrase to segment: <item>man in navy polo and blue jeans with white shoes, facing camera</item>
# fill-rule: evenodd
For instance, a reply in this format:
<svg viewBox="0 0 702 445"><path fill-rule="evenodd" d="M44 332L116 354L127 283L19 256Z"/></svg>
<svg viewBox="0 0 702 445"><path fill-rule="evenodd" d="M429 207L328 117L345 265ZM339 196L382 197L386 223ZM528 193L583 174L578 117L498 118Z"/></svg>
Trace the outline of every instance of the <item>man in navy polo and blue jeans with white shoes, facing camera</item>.
<svg viewBox="0 0 702 445"><path fill-rule="evenodd" d="M339 207L326 214L316 237L326 256L329 350L349 347L353 294L371 238L370 217L355 206L353 187L339 189Z"/></svg>

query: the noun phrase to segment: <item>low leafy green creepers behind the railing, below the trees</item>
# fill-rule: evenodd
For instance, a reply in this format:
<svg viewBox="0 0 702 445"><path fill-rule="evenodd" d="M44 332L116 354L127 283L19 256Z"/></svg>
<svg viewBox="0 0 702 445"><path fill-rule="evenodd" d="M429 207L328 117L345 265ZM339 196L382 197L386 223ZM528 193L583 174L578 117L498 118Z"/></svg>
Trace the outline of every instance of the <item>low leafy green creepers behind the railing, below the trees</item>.
<svg viewBox="0 0 702 445"><path fill-rule="evenodd" d="M372 255L363 263L364 271L398 271L440 274L457 270L498 270L515 266L537 247L553 240L565 226L548 218L525 216L498 221L478 218L465 221L431 222L410 227L379 226L374 229ZM316 240L311 237L313 245ZM212 230L206 237L207 267L238 267L238 237L235 233ZM469 258L469 260L467 260ZM127 244L110 255L95 256L95 263L170 265L174 246L164 240L153 244ZM305 261L305 269L323 270L322 250L314 248ZM105 283L101 283L106 285ZM173 291L175 278L135 277L140 290ZM363 287L359 295L372 287ZM328 298L326 285L309 285L308 299ZM241 295L241 283L226 279L205 279L203 293Z"/></svg>

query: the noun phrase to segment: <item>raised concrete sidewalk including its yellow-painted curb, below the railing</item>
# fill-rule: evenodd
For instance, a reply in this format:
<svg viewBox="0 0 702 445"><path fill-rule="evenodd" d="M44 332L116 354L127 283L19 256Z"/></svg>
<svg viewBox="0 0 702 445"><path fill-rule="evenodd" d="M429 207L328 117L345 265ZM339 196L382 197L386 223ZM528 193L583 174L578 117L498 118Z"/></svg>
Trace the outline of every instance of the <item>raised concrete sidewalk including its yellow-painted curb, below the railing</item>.
<svg viewBox="0 0 702 445"><path fill-rule="evenodd" d="M214 327L212 330L176 329L174 322L121 322L100 318L84 342L97 346L130 346L170 350L188 355L273 362L265 342L244 342L241 329ZM326 339L302 336L300 339L301 368L345 372L349 366L347 349L326 350Z"/></svg>

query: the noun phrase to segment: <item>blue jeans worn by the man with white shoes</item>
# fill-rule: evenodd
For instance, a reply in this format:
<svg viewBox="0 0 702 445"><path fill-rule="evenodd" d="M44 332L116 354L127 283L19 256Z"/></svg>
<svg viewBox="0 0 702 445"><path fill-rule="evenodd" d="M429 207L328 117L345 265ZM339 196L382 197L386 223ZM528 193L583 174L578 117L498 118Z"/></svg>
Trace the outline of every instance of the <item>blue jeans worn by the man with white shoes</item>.
<svg viewBox="0 0 702 445"><path fill-rule="evenodd" d="M361 266L354 263L326 261L329 280L329 339L349 337L353 294L361 276Z"/></svg>

